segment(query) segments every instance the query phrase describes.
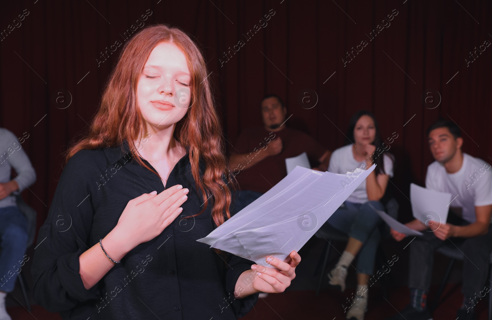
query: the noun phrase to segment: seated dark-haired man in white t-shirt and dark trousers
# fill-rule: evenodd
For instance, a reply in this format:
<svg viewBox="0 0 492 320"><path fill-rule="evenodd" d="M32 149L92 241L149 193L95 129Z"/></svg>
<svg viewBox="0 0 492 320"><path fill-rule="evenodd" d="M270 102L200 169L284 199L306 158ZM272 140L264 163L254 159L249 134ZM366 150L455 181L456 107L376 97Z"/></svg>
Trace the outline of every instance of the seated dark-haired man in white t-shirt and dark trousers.
<svg viewBox="0 0 492 320"><path fill-rule="evenodd" d="M426 226L415 219L406 224L427 232L410 244L408 287L411 303L389 319L431 319L426 298L431 285L433 252L441 245L450 244L458 246L465 256L461 290L464 298L457 317L472 320L475 319L476 294L488 288L487 270L492 251L492 170L486 161L461 151L463 139L456 123L439 120L428 129L428 137L436 161L427 168L426 188L451 193L453 200L446 223L431 221ZM397 241L405 237L394 230L391 233Z"/></svg>

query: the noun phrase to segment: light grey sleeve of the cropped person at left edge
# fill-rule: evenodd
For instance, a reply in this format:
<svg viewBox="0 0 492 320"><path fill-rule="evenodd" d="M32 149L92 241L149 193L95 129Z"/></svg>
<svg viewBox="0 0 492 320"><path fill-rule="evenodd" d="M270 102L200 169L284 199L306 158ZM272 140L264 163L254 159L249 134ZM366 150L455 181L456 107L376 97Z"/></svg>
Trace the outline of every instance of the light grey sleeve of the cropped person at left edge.
<svg viewBox="0 0 492 320"><path fill-rule="evenodd" d="M7 162L12 168L14 168L17 176L13 180L15 180L19 185L19 190L12 192L12 194L18 195L36 181L36 173L34 168L32 168L29 157L22 149L22 145L19 143L14 134L8 130L5 130L5 134L2 139L8 140L9 148L5 151L7 151L10 156L7 157Z"/></svg>

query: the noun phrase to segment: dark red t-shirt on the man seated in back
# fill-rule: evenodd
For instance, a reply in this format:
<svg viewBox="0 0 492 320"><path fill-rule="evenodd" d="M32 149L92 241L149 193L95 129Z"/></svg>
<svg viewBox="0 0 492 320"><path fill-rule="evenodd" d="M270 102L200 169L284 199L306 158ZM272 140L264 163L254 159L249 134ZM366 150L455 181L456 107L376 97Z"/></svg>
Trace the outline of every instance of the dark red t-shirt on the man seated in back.
<svg viewBox="0 0 492 320"><path fill-rule="evenodd" d="M269 156L248 169L244 169L241 164L237 168L231 168L241 190L267 192L287 175L286 158L306 152L311 163L318 163L319 158L327 151L316 140L296 129L286 127L280 131L271 132L265 127L249 127L241 132L231 153L249 153L243 162L246 165L260 152L265 152L268 143L277 137L282 140L282 151L279 154Z"/></svg>

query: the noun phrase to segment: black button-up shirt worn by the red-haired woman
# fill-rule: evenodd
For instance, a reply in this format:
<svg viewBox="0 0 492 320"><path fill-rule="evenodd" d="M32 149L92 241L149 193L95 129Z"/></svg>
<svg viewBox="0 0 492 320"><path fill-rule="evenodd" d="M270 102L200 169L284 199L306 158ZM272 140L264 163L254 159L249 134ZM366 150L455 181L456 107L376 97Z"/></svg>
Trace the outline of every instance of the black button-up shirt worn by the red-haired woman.
<svg viewBox="0 0 492 320"><path fill-rule="evenodd" d="M121 145L83 149L67 162L37 238L31 271L34 300L48 311L60 312L62 319L245 316L258 294L235 299L233 292L240 274L254 262L228 254L226 264L207 244L196 241L216 228L210 200L201 215L182 219L198 213L203 204L188 154L166 182L166 187L182 184L189 189L180 217L85 289L79 256L113 230L129 200L164 190L157 175L131 159L126 141L123 147L124 151Z"/></svg>

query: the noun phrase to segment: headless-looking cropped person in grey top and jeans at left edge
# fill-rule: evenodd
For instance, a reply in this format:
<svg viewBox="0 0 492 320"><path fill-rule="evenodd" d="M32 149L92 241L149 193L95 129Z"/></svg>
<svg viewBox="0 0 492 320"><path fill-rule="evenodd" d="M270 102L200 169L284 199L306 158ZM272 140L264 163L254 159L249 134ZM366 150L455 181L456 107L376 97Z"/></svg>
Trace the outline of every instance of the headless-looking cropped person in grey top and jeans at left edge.
<svg viewBox="0 0 492 320"><path fill-rule="evenodd" d="M0 128L0 320L11 320L5 309L5 297L14 290L20 272L17 263L24 262L28 241L28 223L15 198L36 181L31 161L22 149L27 138L17 138ZM17 174L13 179L12 168Z"/></svg>

